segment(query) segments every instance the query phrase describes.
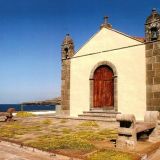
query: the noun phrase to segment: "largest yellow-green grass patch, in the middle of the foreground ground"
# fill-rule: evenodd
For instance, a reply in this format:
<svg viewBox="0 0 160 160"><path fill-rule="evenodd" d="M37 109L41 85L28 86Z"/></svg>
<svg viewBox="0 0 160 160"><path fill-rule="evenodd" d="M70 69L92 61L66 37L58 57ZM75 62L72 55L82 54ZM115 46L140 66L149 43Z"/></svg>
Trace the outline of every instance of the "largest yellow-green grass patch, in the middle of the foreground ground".
<svg viewBox="0 0 160 160"><path fill-rule="evenodd" d="M94 131L78 131L72 132L69 128L63 128L63 134L45 135L27 142L27 145L41 150L52 151L55 149L73 149L89 152L96 147L93 141L101 141L106 139L105 135L100 135Z"/></svg>

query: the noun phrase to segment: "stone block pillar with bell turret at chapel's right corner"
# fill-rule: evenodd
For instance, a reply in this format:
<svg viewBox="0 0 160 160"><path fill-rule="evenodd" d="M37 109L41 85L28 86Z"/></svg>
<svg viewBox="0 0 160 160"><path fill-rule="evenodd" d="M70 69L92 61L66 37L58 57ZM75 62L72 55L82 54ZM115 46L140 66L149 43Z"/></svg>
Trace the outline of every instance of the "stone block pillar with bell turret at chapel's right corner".
<svg viewBox="0 0 160 160"><path fill-rule="evenodd" d="M153 9L145 24L147 110L160 111L160 15Z"/></svg>

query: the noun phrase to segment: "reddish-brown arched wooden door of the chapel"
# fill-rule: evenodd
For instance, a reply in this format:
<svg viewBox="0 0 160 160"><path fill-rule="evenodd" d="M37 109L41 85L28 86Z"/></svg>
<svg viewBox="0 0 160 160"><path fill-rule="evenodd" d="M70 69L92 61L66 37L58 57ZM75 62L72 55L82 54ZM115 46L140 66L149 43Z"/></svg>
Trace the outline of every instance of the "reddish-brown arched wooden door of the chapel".
<svg viewBox="0 0 160 160"><path fill-rule="evenodd" d="M110 109L114 106L114 74L109 66L100 66L93 77L93 107Z"/></svg>

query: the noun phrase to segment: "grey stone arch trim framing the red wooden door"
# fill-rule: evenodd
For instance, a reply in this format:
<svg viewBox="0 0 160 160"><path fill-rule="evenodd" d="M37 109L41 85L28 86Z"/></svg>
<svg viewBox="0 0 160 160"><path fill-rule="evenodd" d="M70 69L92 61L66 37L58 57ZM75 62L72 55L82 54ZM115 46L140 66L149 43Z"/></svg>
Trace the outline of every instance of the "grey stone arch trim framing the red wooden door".
<svg viewBox="0 0 160 160"><path fill-rule="evenodd" d="M117 70L116 70L115 65L109 61L101 61L101 62L97 63L91 71L91 74L89 77L89 81L90 81L89 82L90 83L90 109L94 108L93 107L93 76L94 76L94 72L98 67L103 66L103 65L109 66L112 69L113 74L114 74L114 106L113 106L114 109L113 110L118 111Z"/></svg>

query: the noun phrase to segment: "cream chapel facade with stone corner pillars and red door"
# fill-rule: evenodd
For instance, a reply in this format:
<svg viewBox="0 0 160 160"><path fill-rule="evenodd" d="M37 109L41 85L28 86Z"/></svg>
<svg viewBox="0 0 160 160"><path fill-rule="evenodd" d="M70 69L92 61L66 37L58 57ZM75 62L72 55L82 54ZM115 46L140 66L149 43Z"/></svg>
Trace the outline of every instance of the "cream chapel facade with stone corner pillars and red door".
<svg viewBox="0 0 160 160"><path fill-rule="evenodd" d="M76 53L66 35L62 43L62 114L114 111L143 119L160 111L160 14L153 9L145 38L112 28L108 17Z"/></svg>

